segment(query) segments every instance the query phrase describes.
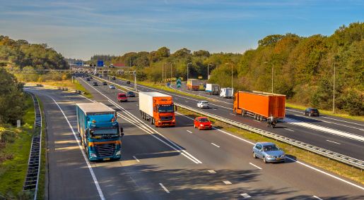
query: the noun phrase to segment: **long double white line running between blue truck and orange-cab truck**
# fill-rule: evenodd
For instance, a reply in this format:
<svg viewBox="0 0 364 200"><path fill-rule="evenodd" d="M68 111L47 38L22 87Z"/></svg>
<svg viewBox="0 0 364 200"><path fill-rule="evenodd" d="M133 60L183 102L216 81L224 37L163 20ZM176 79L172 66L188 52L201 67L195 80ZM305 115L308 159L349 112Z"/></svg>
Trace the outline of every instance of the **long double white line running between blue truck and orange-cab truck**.
<svg viewBox="0 0 364 200"><path fill-rule="evenodd" d="M86 82L86 81L83 80L83 82ZM88 82L86 82L86 84L89 85ZM93 88L93 89L95 89L95 88ZM100 93L102 96L105 96L105 94L102 94L102 92L100 92L98 89L95 89L95 90L98 93ZM163 142L163 144L166 144L167 146L170 146L170 148L174 149L175 151L180 152L180 154L182 154L186 158L189 158L189 160L191 160L192 162L194 162L196 164L202 163L201 161L199 161L199 159L197 159L194 156L192 156L191 154L189 154L186 150L181 149L181 147L178 146L177 144L175 144L175 142L172 142L170 139L168 139L164 135L161 135L160 132L157 132L156 130L154 130L153 128L151 128L149 125L147 125L146 123L144 123L142 120L140 120L139 118L137 118L136 116L134 116L133 114L131 114L129 111L125 110L122 106L119 106L116 102L112 101L109 97L105 96L105 98L106 99L109 99L110 103L113 104L114 106L116 106L117 108L122 109L124 115L129 115L129 117L125 117L124 120L129 121L129 123L134 124L136 127L139 127L141 130L144 130L146 133L148 133L149 135L151 135L155 139L158 139L160 142ZM122 115L119 114L119 113L117 113L117 115L119 115L119 116L122 117ZM131 122L131 120L134 120L134 121ZM163 137L163 139L167 140L172 145L170 145L167 142L163 141L159 137L156 137L153 133L157 133L158 135L160 135L160 137Z"/></svg>

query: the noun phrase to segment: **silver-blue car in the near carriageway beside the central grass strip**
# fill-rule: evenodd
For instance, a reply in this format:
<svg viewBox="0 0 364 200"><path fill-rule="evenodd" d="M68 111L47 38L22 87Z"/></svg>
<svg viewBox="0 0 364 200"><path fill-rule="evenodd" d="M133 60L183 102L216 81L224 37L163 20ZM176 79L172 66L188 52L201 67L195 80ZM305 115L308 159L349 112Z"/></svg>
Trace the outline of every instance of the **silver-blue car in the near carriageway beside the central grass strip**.
<svg viewBox="0 0 364 200"><path fill-rule="evenodd" d="M274 143L257 142L253 146L253 158L262 158L264 163L284 162L286 154Z"/></svg>

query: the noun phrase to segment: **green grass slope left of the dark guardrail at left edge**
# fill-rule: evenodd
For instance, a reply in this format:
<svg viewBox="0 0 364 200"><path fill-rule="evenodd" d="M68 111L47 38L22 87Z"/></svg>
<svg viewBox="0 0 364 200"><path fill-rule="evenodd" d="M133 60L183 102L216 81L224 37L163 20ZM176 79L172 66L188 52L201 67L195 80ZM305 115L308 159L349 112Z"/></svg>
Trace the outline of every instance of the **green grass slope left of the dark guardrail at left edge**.
<svg viewBox="0 0 364 200"><path fill-rule="evenodd" d="M25 104L27 110L24 116L24 125L21 128L11 128L16 132L15 141L6 143L4 149L0 149L1 157L10 156L10 159L0 163L0 195L16 199L19 196L24 196L23 183L28 169L35 120L33 99L28 94L25 95Z"/></svg>

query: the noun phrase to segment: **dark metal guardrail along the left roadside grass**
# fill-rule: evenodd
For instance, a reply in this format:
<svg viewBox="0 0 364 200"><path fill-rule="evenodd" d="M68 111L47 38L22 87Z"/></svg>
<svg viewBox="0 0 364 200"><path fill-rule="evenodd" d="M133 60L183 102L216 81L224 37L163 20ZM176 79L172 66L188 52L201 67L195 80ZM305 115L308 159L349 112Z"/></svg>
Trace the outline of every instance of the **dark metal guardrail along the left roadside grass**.
<svg viewBox="0 0 364 200"><path fill-rule="evenodd" d="M40 156L42 152L42 114L40 113L40 105L34 94L27 92L33 98L35 121L34 121L34 135L32 144L30 146L28 171L25 177L23 190L34 192L34 199L37 199L38 181L40 175Z"/></svg>

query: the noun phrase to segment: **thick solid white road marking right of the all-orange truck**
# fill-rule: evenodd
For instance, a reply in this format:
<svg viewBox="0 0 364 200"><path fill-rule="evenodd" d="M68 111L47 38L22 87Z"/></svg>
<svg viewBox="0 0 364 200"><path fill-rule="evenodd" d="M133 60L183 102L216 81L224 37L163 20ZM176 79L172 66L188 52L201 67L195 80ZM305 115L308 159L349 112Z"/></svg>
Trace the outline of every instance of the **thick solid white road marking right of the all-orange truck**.
<svg viewBox="0 0 364 200"><path fill-rule="evenodd" d="M311 124L311 123L305 123L303 121L294 120L292 118L286 118L284 120L284 122L286 122L288 124L291 124L291 125L298 125L298 126L302 126L302 127L307 127L307 128L313 129L313 130L319 130L319 131L322 131L322 132L327 132L327 133L332 134L332 135L339 135L341 137L347 137L347 138L350 138L350 139L355 139L355 140L364 142L364 137L360 136L360 135L354 135L352 133L342 132L342 131L334 130L334 129L331 129L331 128L328 128L328 127L322 127L322 126L314 125L314 124Z"/></svg>

